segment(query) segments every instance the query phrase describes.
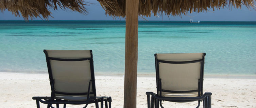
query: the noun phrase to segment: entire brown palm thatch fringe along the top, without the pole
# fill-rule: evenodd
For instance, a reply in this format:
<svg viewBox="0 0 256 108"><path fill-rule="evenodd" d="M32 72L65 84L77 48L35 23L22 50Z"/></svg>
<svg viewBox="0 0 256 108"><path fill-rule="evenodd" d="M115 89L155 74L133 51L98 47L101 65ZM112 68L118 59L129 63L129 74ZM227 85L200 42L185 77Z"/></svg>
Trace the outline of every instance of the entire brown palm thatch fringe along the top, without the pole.
<svg viewBox="0 0 256 108"><path fill-rule="evenodd" d="M106 10L106 14L113 17L125 17L126 0L97 0ZM187 12L202 12L209 8L220 9L222 7L241 8L241 5L255 8L256 0L139 0L139 15L154 16L158 13L181 16ZM0 0L0 10L7 9L15 16L21 16L25 20L42 16L48 19L51 16L50 9L71 9L86 14L86 4L83 0ZM19 14L20 13L20 14Z"/></svg>

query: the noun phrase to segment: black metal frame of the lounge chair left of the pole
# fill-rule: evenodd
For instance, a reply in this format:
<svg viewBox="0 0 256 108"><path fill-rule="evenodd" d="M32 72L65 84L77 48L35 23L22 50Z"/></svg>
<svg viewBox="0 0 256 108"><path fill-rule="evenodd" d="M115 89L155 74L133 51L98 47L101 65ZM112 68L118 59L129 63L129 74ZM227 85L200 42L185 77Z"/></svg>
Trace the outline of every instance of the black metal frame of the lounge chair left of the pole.
<svg viewBox="0 0 256 108"><path fill-rule="evenodd" d="M83 108L86 108L88 104L95 103L96 108L99 108L99 102L101 103L101 108L103 108L103 102L105 102L105 108L111 108L111 97L96 97L96 87L95 87L95 75L94 75L94 68L93 68L93 57L92 57L92 50L90 50L90 58L80 58L80 59L62 59L62 58L53 58L48 57L48 53L46 50L44 50L44 53L46 55L46 62L48 67L48 73L49 73L49 79L51 84L51 97L33 97L33 100L36 100L36 106L37 108L40 108L39 102L43 104L48 104L47 108L55 108L52 106L52 104L56 104L56 108L59 108L59 104L64 104L63 108L66 108L66 104L72 104L72 105L80 105L85 104ZM58 60L58 61L83 61L83 60L89 60L90 61L90 69L91 69L91 80L89 81L89 87L87 92L83 93L67 93L67 92L58 92L54 90L54 79L52 77L52 69L50 60ZM92 84L92 92L90 91L90 84ZM63 99L56 99L54 96L55 93L58 94L64 94L64 95L71 95L71 96L77 96L77 95L87 95L86 101L67 101ZM89 94L93 94L93 96L89 96ZM108 102L108 105L107 105Z"/></svg>

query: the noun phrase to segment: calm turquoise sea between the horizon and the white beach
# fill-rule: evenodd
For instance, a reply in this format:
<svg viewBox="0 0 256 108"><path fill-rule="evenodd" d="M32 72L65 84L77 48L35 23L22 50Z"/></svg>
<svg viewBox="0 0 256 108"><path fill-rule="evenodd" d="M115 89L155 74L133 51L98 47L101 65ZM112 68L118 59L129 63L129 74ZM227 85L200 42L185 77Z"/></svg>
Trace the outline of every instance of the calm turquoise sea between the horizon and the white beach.
<svg viewBox="0 0 256 108"><path fill-rule="evenodd" d="M92 50L96 74L124 74L125 21L0 21L0 72L47 73L44 49ZM205 74L256 75L256 22L139 21L138 74L155 53L205 52Z"/></svg>

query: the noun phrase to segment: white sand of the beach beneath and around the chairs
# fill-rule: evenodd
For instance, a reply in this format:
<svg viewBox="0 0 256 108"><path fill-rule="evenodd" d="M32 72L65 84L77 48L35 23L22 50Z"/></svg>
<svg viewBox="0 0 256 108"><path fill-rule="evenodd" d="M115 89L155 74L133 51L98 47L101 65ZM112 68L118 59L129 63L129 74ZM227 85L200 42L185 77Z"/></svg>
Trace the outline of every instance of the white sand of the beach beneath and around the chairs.
<svg viewBox="0 0 256 108"><path fill-rule="evenodd" d="M137 78L137 108L147 107L147 91L156 91L154 77ZM48 74L0 72L0 108L35 108L34 96L50 96ZM111 96L112 108L123 107L124 77L96 76L97 96ZM212 92L212 108L256 108L256 79L205 78L204 92ZM45 105L40 104L42 108ZM197 102L164 102L164 107L195 107ZM94 108L90 104L87 108ZM202 102L200 108L202 108Z"/></svg>

